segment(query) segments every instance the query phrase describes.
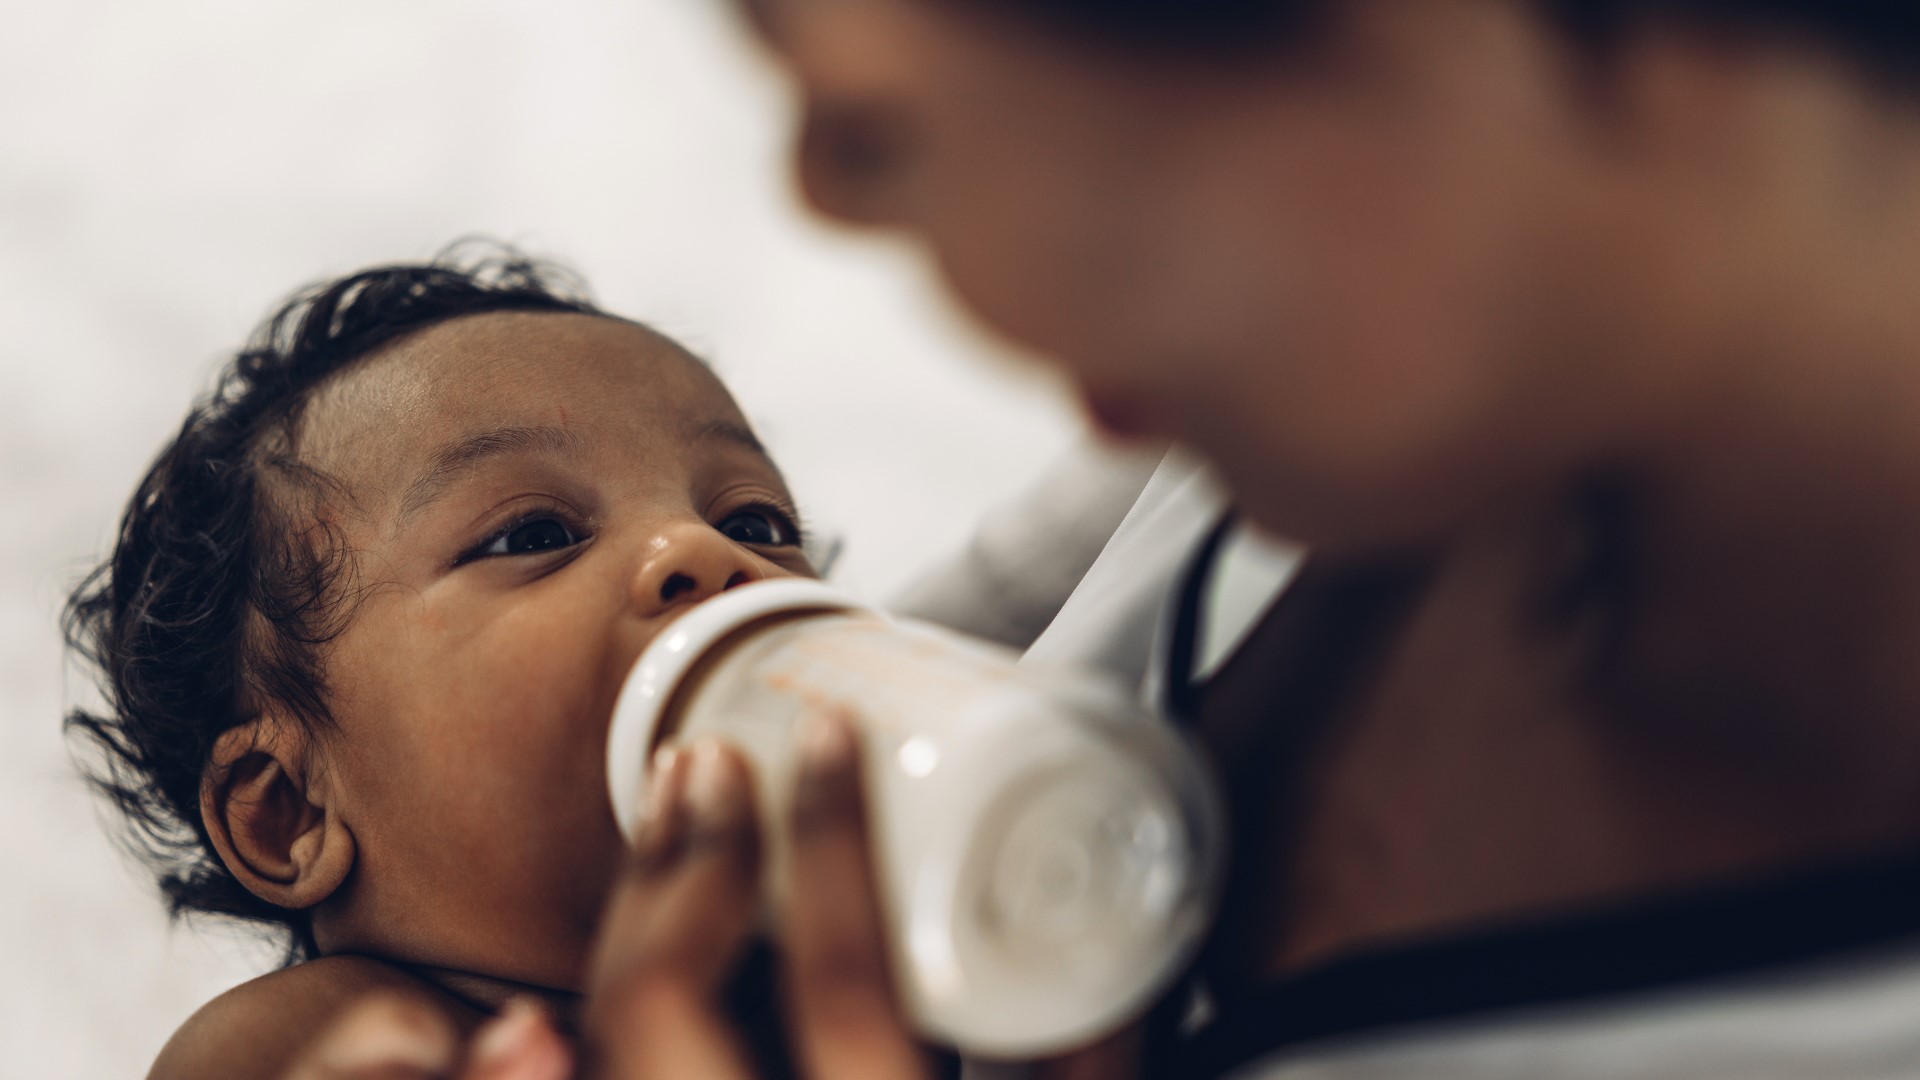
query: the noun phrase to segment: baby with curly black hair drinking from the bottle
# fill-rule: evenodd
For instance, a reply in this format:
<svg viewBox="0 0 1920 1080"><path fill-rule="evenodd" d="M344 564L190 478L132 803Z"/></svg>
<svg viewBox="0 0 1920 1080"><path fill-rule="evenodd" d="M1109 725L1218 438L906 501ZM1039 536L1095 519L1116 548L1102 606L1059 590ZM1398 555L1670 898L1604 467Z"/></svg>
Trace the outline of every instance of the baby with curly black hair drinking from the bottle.
<svg viewBox="0 0 1920 1080"><path fill-rule="evenodd" d="M156 1076L275 1076L374 990L472 1030L578 995L622 840L603 740L682 609L812 577L720 380L511 254L294 298L134 492L69 724L177 913L284 934Z"/></svg>

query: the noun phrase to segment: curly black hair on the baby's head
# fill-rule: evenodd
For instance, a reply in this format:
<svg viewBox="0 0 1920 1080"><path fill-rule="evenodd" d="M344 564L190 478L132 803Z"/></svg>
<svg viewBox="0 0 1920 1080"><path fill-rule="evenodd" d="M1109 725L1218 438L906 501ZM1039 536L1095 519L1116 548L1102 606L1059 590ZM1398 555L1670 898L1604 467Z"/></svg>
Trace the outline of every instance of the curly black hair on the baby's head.
<svg viewBox="0 0 1920 1080"><path fill-rule="evenodd" d="M271 928L286 961L317 955L305 913L250 894L200 817L215 740L275 703L332 723L324 646L351 619L351 552L323 525L338 486L300 461L307 402L357 359L484 311L603 315L570 275L495 244L305 288L253 332L186 413L119 521L113 553L67 600L63 630L106 709L67 715L88 780L175 917Z"/></svg>

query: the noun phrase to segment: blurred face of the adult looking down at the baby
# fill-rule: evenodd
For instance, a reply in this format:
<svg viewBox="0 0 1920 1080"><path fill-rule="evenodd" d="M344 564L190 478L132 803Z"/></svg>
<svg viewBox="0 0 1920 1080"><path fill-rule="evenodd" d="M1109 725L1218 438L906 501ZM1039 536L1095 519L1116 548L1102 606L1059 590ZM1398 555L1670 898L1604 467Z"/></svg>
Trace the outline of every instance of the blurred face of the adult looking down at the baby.
<svg viewBox="0 0 1920 1080"><path fill-rule="evenodd" d="M1601 140L1521 4L1356 0L1231 58L958 0L747 8L803 94L820 211L924 238L1096 421L1198 446L1269 527L1436 528L1632 400L1576 363L1617 261Z"/></svg>

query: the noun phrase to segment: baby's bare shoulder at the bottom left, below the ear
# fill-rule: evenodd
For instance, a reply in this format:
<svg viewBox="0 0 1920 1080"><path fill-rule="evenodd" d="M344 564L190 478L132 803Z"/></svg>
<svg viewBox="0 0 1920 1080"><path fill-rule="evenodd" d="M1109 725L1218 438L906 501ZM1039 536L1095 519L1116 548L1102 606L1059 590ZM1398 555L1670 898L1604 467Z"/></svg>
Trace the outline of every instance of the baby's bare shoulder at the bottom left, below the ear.
<svg viewBox="0 0 1920 1080"><path fill-rule="evenodd" d="M154 1061L148 1080L230 1076L275 1080L344 1009L382 994L467 1026L444 992L372 957L323 957L221 994L200 1007Z"/></svg>

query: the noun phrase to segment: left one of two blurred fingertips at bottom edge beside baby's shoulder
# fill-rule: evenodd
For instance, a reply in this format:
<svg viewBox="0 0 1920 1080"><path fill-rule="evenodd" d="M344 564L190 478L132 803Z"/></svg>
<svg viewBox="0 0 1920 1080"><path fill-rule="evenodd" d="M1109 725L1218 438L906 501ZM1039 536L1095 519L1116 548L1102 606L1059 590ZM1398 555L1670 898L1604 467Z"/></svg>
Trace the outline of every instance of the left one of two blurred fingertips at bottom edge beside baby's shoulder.
<svg viewBox="0 0 1920 1080"><path fill-rule="evenodd" d="M424 1080L453 1072L459 1036L419 1001L371 994L294 1059L284 1080Z"/></svg>

